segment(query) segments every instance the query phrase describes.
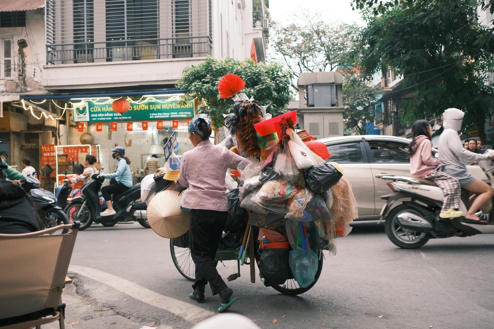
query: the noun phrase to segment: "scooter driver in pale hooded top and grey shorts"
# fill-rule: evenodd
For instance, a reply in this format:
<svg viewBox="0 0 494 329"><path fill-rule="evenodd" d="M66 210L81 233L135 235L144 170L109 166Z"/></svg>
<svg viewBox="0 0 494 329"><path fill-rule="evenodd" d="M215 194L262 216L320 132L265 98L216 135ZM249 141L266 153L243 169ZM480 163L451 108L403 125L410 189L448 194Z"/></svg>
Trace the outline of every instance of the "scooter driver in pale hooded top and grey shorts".
<svg viewBox="0 0 494 329"><path fill-rule="evenodd" d="M493 159L493 154L477 154L465 149L461 144L458 131L461 129L461 122L465 113L458 109L448 109L443 113L444 131L439 137L439 162L441 170L453 176L460 182L460 186L477 195L472 201L470 209L465 214L465 221L478 224L487 224L485 220L480 220L475 212L492 199L494 190L487 183L476 178L466 169L466 161L480 161Z"/></svg>

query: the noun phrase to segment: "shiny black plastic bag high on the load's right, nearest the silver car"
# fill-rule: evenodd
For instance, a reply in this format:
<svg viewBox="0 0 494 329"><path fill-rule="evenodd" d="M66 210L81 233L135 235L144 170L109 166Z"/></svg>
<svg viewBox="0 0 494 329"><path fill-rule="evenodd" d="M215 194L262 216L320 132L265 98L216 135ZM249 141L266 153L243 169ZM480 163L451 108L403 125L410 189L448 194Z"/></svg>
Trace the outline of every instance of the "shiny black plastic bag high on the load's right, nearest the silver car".
<svg viewBox="0 0 494 329"><path fill-rule="evenodd" d="M338 183L341 173L328 162L316 163L304 170L306 187L314 193L322 194Z"/></svg>

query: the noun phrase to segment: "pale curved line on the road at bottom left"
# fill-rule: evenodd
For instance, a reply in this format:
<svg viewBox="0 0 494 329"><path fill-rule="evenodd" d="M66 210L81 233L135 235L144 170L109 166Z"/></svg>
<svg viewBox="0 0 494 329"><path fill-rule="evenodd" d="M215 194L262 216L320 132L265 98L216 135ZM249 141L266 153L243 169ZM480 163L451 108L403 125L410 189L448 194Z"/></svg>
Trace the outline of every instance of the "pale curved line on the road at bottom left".
<svg viewBox="0 0 494 329"><path fill-rule="evenodd" d="M135 299L171 312L193 324L215 314L204 308L162 295L124 278L94 268L70 265L69 271L99 281Z"/></svg>

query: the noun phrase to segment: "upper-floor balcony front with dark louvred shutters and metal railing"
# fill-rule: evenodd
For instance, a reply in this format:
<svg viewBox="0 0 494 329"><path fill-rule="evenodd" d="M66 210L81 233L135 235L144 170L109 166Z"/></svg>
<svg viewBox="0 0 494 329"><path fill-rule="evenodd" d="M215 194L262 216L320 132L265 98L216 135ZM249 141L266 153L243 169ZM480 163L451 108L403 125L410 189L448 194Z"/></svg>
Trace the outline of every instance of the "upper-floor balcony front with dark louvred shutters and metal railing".
<svg viewBox="0 0 494 329"><path fill-rule="evenodd" d="M211 0L46 0L46 63L211 54Z"/></svg>

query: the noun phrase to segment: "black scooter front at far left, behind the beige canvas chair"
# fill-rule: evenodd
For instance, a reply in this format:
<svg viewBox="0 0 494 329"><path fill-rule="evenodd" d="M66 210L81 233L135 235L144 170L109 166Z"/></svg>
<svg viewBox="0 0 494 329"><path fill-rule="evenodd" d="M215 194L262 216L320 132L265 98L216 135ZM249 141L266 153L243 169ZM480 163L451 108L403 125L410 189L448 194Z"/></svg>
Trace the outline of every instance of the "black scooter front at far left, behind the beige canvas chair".
<svg viewBox="0 0 494 329"><path fill-rule="evenodd" d="M33 176L26 176L20 180L20 182L22 188L26 191L26 194L33 200L35 209L38 211L38 214L43 221L44 228L50 228L61 224L70 224L70 221L62 208L57 206L57 198L53 193L42 189L40 187L40 181ZM63 234L68 232L68 229L61 231Z"/></svg>

